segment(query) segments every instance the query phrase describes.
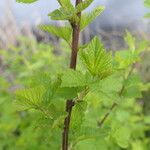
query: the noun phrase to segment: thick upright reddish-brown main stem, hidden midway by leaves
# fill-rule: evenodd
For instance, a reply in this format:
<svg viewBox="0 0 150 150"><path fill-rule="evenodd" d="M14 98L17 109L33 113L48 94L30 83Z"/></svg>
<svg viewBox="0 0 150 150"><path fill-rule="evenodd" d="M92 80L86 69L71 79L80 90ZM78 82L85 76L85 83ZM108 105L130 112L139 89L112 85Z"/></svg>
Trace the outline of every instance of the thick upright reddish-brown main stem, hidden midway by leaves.
<svg viewBox="0 0 150 150"><path fill-rule="evenodd" d="M76 0L76 6L82 2L82 0ZM81 18L81 12L78 14L79 20ZM78 45L79 45L79 34L80 34L80 22L78 24L72 23L72 52L71 52L71 60L70 60L70 68L76 69L77 63L77 53L78 53ZM68 136L69 136L69 126L70 126L70 119L71 119L71 112L72 108L75 105L73 100L66 101L66 112L68 113L67 117L64 121L64 130L62 133L62 150L68 150Z"/></svg>

